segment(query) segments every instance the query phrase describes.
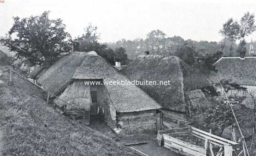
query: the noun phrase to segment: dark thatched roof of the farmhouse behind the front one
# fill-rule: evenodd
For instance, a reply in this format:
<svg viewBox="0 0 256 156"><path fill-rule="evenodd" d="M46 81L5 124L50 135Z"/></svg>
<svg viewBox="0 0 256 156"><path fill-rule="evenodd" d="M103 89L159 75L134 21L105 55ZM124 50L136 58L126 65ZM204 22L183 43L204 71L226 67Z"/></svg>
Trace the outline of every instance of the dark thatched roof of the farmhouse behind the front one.
<svg viewBox="0 0 256 156"><path fill-rule="evenodd" d="M170 85L141 85L142 90L154 98L163 108L186 112L184 92L210 86L208 79L192 69L180 58L163 55L139 55L123 68L130 80L170 81Z"/></svg>

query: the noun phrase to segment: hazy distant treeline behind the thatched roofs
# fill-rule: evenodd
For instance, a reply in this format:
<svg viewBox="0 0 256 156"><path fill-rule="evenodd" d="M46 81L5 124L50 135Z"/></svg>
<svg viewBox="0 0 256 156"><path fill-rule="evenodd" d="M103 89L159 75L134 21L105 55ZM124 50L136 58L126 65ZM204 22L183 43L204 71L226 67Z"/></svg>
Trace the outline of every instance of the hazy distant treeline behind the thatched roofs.
<svg viewBox="0 0 256 156"><path fill-rule="evenodd" d="M224 44L225 42L225 44ZM178 48L184 46L184 44L195 47L197 52L201 54L215 54L218 51L223 53L223 56L230 55L230 40L221 40L219 42L208 42L208 41L195 41L195 40L184 40L180 36L166 37L166 34L160 30L153 30L148 33L146 39L137 38L134 40L118 40L115 43L108 43L108 47L115 49L117 47L123 47L126 50L129 59L134 59L140 54L144 54L145 51L149 51L150 54L158 55L175 55ZM222 50L222 46L224 48ZM237 44L233 41L232 53L236 56Z"/></svg>

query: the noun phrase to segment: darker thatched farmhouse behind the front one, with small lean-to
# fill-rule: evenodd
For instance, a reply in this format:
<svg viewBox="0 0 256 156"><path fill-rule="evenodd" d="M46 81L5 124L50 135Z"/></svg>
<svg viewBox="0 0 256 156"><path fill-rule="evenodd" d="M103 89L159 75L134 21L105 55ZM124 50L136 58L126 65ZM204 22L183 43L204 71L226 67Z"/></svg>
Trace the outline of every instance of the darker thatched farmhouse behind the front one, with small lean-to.
<svg viewBox="0 0 256 156"><path fill-rule="evenodd" d="M139 55L122 73L130 80L170 81L170 85L139 86L162 105L167 128L179 126L186 116L200 113L209 104L200 90L210 86L208 79L175 56Z"/></svg>

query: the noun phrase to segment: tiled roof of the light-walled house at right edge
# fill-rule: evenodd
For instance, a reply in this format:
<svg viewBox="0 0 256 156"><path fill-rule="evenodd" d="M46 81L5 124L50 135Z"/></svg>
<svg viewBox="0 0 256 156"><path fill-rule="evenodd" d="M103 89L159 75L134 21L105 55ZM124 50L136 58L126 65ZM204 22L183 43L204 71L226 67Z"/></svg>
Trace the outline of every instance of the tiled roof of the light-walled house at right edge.
<svg viewBox="0 0 256 156"><path fill-rule="evenodd" d="M256 57L223 57L215 63L214 72L210 79L218 83L218 80L228 80L239 85L256 86Z"/></svg>

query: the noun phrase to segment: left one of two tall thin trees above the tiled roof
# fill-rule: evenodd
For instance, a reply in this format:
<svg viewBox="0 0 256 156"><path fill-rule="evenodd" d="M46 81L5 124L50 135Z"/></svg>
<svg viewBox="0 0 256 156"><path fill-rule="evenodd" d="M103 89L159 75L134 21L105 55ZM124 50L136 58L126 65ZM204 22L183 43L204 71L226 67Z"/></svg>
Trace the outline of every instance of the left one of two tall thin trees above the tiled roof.
<svg viewBox="0 0 256 156"><path fill-rule="evenodd" d="M230 18L227 20L226 23L223 24L223 28L220 30L220 33L231 41L230 45L230 56L232 56L232 48L233 48L233 42L240 39L240 25L237 21L234 21L233 18ZM222 51L224 49L224 45L222 46Z"/></svg>

